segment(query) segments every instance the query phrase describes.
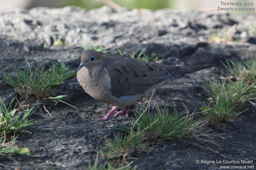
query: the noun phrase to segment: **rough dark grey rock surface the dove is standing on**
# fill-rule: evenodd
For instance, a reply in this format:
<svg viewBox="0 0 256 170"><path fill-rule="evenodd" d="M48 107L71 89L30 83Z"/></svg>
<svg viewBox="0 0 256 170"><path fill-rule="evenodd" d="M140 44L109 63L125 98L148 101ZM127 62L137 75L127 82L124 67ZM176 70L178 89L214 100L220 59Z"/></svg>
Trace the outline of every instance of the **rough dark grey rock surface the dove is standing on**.
<svg viewBox="0 0 256 170"><path fill-rule="evenodd" d="M69 6L8 10L2 11L0 16L0 65L6 73L7 69L13 72L15 64L24 68L27 64L24 55L38 68L42 68L44 63L51 67L52 63L69 62L68 65L76 70L82 45L99 45L109 53L117 53L119 48L128 56L148 46L147 54L160 55L159 62L169 65L215 64L224 57L242 60L256 56L256 16L252 15L229 16L226 13L171 9L155 12L124 9L116 12L107 6L85 11ZM209 41L210 37L224 35L234 24L236 29L231 38L238 41ZM67 45L53 46L58 38ZM181 104L184 103L191 110L200 111L199 108L207 101L207 90L201 82L207 83L211 76L218 78L218 70L227 72L220 64L212 69L169 79L156 89L151 102L162 107L164 101L170 110L174 106L184 110ZM0 96L9 104L17 94L4 78L0 77L0 83ZM91 118L104 116L111 106L86 94L76 78L65 81L58 89L68 95L64 101L78 109L62 103L54 107L54 103L46 102L47 109L53 112L52 118L42 104L37 104L37 111L31 118L41 122L26 128L27 134L20 135L17 144L30 147L30 151L39 157L1 156L1 164L8 165L0 165L1 169L13 169L15 166L20 169L47 169L46 164L54 169L84 169L90 161L93 164L101 136L109 134L108 137L113 139L113 133L117 132L114 127L134 117L132 114L129 117L120 115L105 122L91 122ZM135 108L145 107L144 102L149 100L149 96L138 101ZM256 161L255 150L230 146L256 145L256 109L250 105L245 107L249 109L224 131L226 139L215 139L224 145L218 152L226 158L185 142L166 141L148 155L138 156L132 165L139 165L142 169L220 169L219 165L245 164L197 164L196 160ZM212 132L222 133L218 129ZM102 157L100 161L104 162ZM246 165L255 165L255 162Z"/></svg>

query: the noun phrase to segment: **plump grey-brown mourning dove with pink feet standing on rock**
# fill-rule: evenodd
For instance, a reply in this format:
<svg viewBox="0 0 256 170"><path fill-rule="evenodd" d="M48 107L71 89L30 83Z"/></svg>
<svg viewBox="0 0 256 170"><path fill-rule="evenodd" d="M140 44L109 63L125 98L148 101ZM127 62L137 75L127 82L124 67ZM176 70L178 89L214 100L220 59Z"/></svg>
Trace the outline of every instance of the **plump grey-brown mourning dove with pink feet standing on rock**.
<svg viewBox="0 0 256 170"><path fill-rule="evenodd" d="M112 105L106 116L92 119L105 121L122 113L128 116L129 111L134 112L129 106L164 80L213 66L216 65L166 66L122 55L102 55L98 51L87 50L81 56L77 80L84 91L94 99ZM124 107L124 110L117 112L118 107ZM113 113L116 114L112 116Z"/></svg>

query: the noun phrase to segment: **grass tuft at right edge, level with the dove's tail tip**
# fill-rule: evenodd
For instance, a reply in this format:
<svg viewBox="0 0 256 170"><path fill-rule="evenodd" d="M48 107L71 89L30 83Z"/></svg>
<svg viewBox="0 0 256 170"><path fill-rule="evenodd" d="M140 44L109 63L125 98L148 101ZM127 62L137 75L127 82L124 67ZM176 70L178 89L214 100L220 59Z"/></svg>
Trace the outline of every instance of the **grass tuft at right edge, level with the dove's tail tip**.
<svg viewBox="0 0 256 170"><path fill-rule="evenodd" d="M226 58L227 65L222 62L224 67L228 69L236 78L241 78L249 85L256 83L256 60L254 57L242 62L232 61Z"/></svg>

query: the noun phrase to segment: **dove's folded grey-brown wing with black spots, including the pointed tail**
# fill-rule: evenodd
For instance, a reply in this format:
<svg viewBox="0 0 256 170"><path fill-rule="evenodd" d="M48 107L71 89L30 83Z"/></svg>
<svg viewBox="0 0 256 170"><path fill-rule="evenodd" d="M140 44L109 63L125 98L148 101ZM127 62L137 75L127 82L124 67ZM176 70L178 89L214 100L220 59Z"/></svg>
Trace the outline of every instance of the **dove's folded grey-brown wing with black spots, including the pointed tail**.
<svg viewBox="0 0 256 170"><path fill-rule="evenodd" d="M105 66L111 79L112 94L118 98L143 93L148 88L171 77L182 76L215 66L166 66L122 55L105 54L103 56L107 58Z"/></svg>

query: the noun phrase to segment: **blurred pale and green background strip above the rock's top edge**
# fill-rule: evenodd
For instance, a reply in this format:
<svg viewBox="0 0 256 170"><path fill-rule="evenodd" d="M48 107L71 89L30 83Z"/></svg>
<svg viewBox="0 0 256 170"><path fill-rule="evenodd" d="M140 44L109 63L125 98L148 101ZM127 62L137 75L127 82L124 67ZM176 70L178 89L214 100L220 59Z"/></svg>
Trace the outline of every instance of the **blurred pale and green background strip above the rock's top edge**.
<svg viewBox="0 0 256 170"><path fill-rule="evenodd" d="M12 8L26 8L31 9L38 6L47 7L64 7L68 5L75 5L86 10L100 8L104 4L114 2L122 7L129 9L133 8L147 8L153 11L162 8L172 9L200 9L203 11L217 11L217 7L254 7L256 8L256 1L239 1L239 2L252 2L253 5L221 5L223 2L237 2L238 0L0 0L0 11ZM231 15L236 14L256 14L255 10L250 11L228 11Z"/></svg>

